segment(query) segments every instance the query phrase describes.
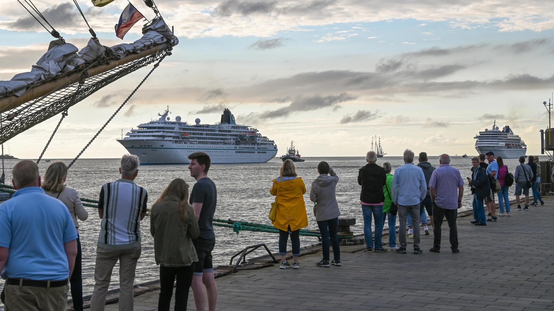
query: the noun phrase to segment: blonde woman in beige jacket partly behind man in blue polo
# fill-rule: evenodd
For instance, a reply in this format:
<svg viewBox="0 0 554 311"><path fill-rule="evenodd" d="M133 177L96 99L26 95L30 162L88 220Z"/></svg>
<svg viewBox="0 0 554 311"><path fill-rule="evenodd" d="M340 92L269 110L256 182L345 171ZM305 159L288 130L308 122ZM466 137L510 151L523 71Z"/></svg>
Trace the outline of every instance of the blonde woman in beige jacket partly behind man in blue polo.
<svg viewBox="0 0 554 311"><path fill-rule="evenodd" d="M73 299L73 308L75 311L83 310L83 277L81 276L81 241L79 239L79 220L86 220L89 212L85 210L79 194L71 188L67 188L64 183L68 175L68 168L63 162L54 162L50 164L46 173L42 189L44 193L53 196L62 201L68 207L69 214L73 218L75 229L77 230L77 257L75 258L75 268L69 279L71 284L71 299Z"/></svg>

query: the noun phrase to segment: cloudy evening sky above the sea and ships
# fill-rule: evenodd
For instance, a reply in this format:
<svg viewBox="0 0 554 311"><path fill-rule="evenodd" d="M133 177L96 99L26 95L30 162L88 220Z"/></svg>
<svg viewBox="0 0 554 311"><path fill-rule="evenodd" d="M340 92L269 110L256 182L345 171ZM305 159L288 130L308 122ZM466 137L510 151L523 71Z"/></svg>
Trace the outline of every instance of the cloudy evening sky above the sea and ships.
<svg viewBox="0 0 554 311"><path fill-rule="evenodd" d="M153 13L131 0L147 18ZM104 45L128 2L79 1ZM554 90L554 2L528 0L158 0L180 39L127 106L83 154L120 157L115 139L170 106L173 116L237 121L291 139L303 156L363 156L371 136L388 155L475 154L475 133L510 125L540 153ZM29 71L53 39L16 0L0 0L0 80ZM90 35L73 3L35 1L66 39ZM73 158L150 68L70 108L45 158ZM9 141L37 158L59 117Z"/></svg>

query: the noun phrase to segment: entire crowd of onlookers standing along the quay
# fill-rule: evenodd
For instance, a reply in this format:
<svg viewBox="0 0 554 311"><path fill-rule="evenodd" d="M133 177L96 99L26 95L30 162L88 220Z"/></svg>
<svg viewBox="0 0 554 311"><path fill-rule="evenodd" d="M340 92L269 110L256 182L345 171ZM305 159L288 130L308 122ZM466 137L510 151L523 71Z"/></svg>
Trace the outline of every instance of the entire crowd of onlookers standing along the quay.
<svg viewBox="0 0 554 311"><path fill-rule="evenodd" d="M208 178L211 159L196 152L188 157L191 177L196 180L189 194L189 185L181 178L172 180L150 209L150 234L154 240L154 259L160 266L158 310L170 310L175 289L175 310L186 310L192 288L197 310L216 310L217 286L214 280L212 251L216 243L213 216L217 206L217 189ZM485 163L485 158L488 163ZM444 218L449 226L449 242L453 253L459 252L456 220L461 208L464 180L460 171L450 166L448 154L439 158L435 168L427 153L406 149L404 164L391 174L389 162L377 164L377 154L366 155L367 164L358 172L361 186L360 205L363 216L365 252L386 252L383 247L384 221L388 222L388 245L397 253L407 253L407 237L413 239L413 252L420 254L420 225L425 235L433 226L433 247L441 248ZM534 206L544 204L538 191L541 170L537 156L520 157L520 165L511 174L501 157L493 152L471 159L468 184L473 194L472 224L485 226L497 221L495 193L500 216L510 216L509 188L515 183L517 210L529 210L529 189ZM102 311L114 266L119 262L119 309L134 307L133 287L137 261L141 256L141 221L147 214L148 193L136 185L139 158L121 158L121 178L102 185L98 216L101 219L96 246L94 290L90 309ZM0 271L6 279L2 302L6 310L65 310L69 284L75 310L83 310L81 277L81 243L79 222L88 219L79 195L64 185L68 169L62 162L52 163L41 179L37 164L30 160L17 163L12 183L17 190L12 199L0 205ZM338 241L336 200L338 176L327 162L317 165L319 176L311 183L310 200L321 234L322 259L319 267L341 266ZM271 221L279 230L281 269L300 268L300 229L308 225L302 178L290 159L281 165L279 177L273 180L270 193L275 196L276 214ZM521 208L520 195L525 195ZM485 217L487 206L489 219ZM426 214L427 212L427 214ZM427 217L428 215L428 217ZM396 219L399 220L399 243L396 240ZM429 222L428 222L429 221ZM373 222L373 228L372 228ZM407 228L408 227L408 232ZM33 228L33 230L28 230ZM290 236L292 262L287 261ZM332 247L333 258L330 258Z"/></svg>

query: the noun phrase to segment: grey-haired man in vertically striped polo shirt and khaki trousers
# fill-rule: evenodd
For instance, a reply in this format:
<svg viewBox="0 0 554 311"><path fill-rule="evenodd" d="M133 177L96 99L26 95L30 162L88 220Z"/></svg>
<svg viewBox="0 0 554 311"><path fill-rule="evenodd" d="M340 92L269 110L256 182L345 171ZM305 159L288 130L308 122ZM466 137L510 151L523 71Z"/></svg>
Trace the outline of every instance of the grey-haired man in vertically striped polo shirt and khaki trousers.
<svg viewBox="0 0 554 311"><path fill-rule="evenodd" d="M139 173L139 157L126 154L121 158L121 178L100 190L98 215L102 219L91 311L104 311L112 269L119 260L119 310L132 311L135 268L141 253L140 221L146 215L146 190L133 180Z"/></svg>

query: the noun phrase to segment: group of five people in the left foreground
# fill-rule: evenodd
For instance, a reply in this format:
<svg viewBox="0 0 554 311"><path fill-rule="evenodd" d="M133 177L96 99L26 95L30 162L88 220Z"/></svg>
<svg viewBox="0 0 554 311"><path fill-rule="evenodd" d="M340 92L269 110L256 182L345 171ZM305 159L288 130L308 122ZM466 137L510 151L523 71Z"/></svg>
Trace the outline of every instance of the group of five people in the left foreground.
<svg viewBox="0 0 554 311"><path fill-rule="evenodd" d="M209 155L188 156L191 177L196 179L189 195L180 178L162 191L150 209L150 233L154 259L160 266L158 310L170 310L173 286L175 310L186 310L192 288L197 310L216 310L217 287L212 265L216 243L213 215L216 185L208 178ZM147 213L146 189L135 184L139 157L121 158L121 178L100 189L100 233L96 243L94 290L90 309L105 309L114 266L119 262L119 310L132 311L137 261L141 256L140 223ZM77 192L64 185L67 167L50 164L40 178L38 165L18 162L12 170L17 190L0 205L0 271L6 279L2 302L7 311L62 311L66 309L69 284L75 310L83 310L81 243L78 220L88 212ZM32 228L32 230L29 230ZM207 298L207 299L206 299Z"/></svg>

